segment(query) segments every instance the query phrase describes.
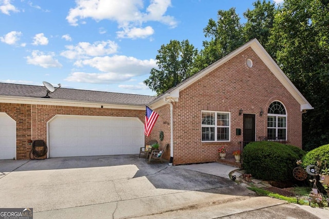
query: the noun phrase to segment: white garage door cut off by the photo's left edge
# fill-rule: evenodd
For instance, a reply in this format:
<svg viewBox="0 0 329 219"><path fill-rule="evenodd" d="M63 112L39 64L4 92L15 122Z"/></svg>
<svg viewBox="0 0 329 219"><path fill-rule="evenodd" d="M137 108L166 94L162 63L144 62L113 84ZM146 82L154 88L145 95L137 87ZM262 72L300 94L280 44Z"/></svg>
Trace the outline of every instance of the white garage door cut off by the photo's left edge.
<svg viewBox="0 0 329 219"><path fill-rule="evenodd" d="M0 160L16 157L16 122L0 112Z"/></svg>

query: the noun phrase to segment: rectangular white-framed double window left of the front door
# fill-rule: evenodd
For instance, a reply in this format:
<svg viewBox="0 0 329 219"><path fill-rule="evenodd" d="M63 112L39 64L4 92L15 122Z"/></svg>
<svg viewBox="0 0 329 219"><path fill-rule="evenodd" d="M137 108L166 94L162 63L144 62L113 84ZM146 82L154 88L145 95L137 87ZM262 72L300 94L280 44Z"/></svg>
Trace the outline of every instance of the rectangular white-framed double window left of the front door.
<svg viewBox="0 0 329 219"><path fill-rule="evenodd" d="M230 113L202 111L202 141L230 141Z"/></svg>

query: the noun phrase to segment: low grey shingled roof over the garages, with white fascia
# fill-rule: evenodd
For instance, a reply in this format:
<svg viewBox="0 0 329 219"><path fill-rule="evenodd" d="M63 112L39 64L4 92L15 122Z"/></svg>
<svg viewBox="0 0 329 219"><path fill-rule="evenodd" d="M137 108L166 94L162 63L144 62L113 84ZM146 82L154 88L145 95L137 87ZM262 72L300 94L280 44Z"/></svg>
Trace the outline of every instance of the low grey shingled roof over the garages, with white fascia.
<svg viewBox="0 0 329 219"><path fill-rule="evenodd" d="M46 96L47 89L44 86L20 85L0 83L0 102L3 103L28 103L45 105L113 105L118 108L143 107L155 99L155 96L112 93L92 90L78 90L58 88ZM125 107L124 107L125 106ZM115 108L115 107L114 107Z"/></svg>

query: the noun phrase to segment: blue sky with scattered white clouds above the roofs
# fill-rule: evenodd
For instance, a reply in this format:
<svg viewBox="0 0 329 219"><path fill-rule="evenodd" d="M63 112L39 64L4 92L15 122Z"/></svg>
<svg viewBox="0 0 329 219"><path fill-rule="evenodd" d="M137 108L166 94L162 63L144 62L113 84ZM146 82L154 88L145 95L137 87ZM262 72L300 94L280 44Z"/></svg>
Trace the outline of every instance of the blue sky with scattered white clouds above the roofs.
<svg viewBox="0 0 329 219"><path fill-rule="evenodd" d="M0 82L155 95L143 81L161 45L200 50L218 10L235 7L243 23L253 2L0 0Z"/></svg>

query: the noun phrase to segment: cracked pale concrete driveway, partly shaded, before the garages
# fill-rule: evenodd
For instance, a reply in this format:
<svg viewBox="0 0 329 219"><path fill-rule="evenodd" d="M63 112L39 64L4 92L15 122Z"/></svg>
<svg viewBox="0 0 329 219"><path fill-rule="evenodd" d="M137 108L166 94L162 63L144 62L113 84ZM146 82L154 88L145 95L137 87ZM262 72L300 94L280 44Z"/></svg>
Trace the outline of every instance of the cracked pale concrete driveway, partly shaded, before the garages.
<svg viewBox="0 0 329 219"><path fill-rule="evenodd" d="M147 164L138 155L3 160L0 208L33 208L34 218L165 218L165 213L220 204L235 203L226 209L239 213L285 203L253 197L253 192L228 178L233 169L217 163ZM258 204L250 204L250 198ZM241 202L249 205L239 207ZM214 218L193 215L189 218Z"/></svg>

